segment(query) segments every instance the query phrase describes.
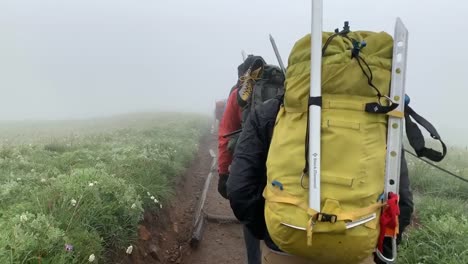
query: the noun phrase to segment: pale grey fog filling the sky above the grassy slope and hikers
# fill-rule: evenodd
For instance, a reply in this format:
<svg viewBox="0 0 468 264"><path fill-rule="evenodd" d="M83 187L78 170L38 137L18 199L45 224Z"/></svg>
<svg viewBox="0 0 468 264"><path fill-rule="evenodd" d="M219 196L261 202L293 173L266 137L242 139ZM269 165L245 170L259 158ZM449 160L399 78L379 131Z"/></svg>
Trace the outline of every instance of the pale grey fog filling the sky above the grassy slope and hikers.
<svg viewBox="0 0 468 264"><path fill-rule="evenodd" d="M410 31L407 93L449 142L468 140L468 4L326 0L324 30ZM241 50L277 64L310 30L310 0L0 0L0 120L211 113Z"/></svg>

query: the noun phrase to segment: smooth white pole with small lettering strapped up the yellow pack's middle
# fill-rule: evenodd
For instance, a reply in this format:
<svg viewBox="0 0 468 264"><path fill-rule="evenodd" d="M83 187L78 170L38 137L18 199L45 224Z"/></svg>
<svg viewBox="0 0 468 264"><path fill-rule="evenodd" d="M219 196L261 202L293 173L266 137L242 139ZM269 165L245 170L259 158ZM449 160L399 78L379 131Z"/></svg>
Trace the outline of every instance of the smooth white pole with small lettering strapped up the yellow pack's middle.
<svg viewBox="0 0 468 264"><path fill-rule="evenodd" d="M312 0L310 97L322 96L322 16L323 1ZM309 106L309 207L316 212L320 212L321 114L321 106Z"/></svg>

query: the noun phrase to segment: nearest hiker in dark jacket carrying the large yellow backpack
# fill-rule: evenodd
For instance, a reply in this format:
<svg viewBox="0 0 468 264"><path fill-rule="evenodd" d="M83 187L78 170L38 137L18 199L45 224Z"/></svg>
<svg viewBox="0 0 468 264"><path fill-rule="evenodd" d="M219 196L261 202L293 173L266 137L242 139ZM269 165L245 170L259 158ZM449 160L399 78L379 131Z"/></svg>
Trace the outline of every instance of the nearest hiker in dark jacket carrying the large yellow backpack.
<svg viewBox="0 0 468 264"><path fill-rule="evenodd" d="M386 33L324 33L323 43L321 211L308 207L304 174L308 106L317 103L309 99L310 35L290 54L284 100L264 105L247 119L228 195L236 217L270 249L310 263L360 263L372 255L380 235L388 115L403 117L384 102L393 39ZM408 139L418 155L440 161L445 146L443 153L426 148L410 116L440 140L437 131L409 106L405 116ZM413 210L404 160L399 194L401 234Z"/></svg>

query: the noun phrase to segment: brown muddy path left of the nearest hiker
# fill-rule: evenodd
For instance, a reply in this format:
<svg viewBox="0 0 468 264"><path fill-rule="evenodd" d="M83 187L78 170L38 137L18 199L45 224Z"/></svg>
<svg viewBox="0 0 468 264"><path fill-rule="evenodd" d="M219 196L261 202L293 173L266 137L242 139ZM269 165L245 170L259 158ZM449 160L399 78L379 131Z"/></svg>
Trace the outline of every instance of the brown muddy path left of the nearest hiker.
<svg viewBox="0 0 468 264"><path fill-rule="evenodd" d="M239 224L205 221L201 241L196 248L190 246L195 207L212 163L209 150L217 152L217 137L207 134L199 146L195 159L178 179L170 204L158 213L145 213L133 253L119 254L113 258L113 263L245 263L242 228ZM233 217L228 201L218 194L217 183L218 174L215 171L204 211L213 215Z"/></svg>

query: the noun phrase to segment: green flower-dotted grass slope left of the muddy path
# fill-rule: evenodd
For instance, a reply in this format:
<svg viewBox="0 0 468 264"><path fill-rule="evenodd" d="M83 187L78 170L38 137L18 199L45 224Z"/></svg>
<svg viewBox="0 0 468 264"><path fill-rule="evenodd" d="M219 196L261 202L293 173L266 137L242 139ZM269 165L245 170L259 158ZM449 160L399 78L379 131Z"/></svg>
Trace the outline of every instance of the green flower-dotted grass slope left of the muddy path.
<svg viewBox="0 0 468 264"><path fill-rule="evenodd" d="M0 263L106 263L107 250L125 251L207 124L177 114L1 124Z"/></svg>

